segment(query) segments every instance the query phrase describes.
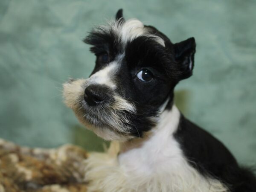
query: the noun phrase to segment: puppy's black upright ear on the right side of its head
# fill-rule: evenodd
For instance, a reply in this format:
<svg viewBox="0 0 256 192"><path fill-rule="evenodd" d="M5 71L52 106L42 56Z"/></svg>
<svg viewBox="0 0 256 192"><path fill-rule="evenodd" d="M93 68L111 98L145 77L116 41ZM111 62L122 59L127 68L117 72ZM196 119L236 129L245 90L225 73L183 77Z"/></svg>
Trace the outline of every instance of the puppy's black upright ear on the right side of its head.
<svg viewBox="0 0 256 192"><path fill-rule="evenodd" d="M175 60L180 68L180 80L192 76L194 68L195 38L174 44Z"/></svg>

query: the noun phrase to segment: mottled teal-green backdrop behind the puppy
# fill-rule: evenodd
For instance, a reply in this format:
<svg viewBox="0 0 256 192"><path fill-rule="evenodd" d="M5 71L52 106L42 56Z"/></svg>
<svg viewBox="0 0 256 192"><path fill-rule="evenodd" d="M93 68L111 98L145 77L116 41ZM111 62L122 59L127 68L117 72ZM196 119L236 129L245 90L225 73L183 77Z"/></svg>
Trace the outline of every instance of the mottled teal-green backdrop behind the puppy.
<svg viewBox="0 0 256 192"><path fill-rule="evenodd" d="M173 42L195 37L194 75L176 87L176 104L240 163L255 164L255 0L0 0L0 137L102 150L64 106L61 84L89 76L95 57L82 39L119 8Z"/></svg>

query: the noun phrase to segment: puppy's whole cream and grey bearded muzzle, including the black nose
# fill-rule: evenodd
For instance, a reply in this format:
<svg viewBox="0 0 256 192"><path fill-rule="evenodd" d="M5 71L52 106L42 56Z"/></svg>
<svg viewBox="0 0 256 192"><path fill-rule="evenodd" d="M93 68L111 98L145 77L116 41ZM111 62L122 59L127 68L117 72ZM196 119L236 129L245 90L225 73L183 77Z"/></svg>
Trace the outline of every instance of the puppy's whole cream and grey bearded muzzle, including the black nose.
<svg viewBox="0 0 256 192"><path fill-rule="evenodd" d="M130 135L131 117L136 110L115 90L104 84L90 84L85 79L68 81L63 87L65 104L87 128L105 139L105 131L111 132L111 139L113 135L119 138Z"/></svg>

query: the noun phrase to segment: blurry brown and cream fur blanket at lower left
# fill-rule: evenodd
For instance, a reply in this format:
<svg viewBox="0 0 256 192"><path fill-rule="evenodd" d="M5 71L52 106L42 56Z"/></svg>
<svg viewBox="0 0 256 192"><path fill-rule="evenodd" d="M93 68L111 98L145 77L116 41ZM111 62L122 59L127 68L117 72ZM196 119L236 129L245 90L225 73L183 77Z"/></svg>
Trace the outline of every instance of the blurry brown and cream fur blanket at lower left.
<svg viewBox="0 0 256 192"><path fill-rule="evenodd" d="M74 145L27 148L0 140L0 192L86 192L86 158Z"/></svg>

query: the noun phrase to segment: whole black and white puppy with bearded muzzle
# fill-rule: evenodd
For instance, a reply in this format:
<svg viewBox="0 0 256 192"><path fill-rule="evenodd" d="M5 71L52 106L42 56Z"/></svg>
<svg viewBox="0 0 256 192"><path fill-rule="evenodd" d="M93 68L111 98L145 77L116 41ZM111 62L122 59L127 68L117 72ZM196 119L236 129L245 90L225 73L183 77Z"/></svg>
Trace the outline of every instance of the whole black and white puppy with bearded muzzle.
<svg viewBox="0 0 256 192"><path fill-rule="evenodd" d="M256 192L253 173L174 105L175 85L192 75L194 38L173 44L120 9L84 42L95 68L64 84L64 100L87 128L116 141L86 160L89 192Z"/></svg>

